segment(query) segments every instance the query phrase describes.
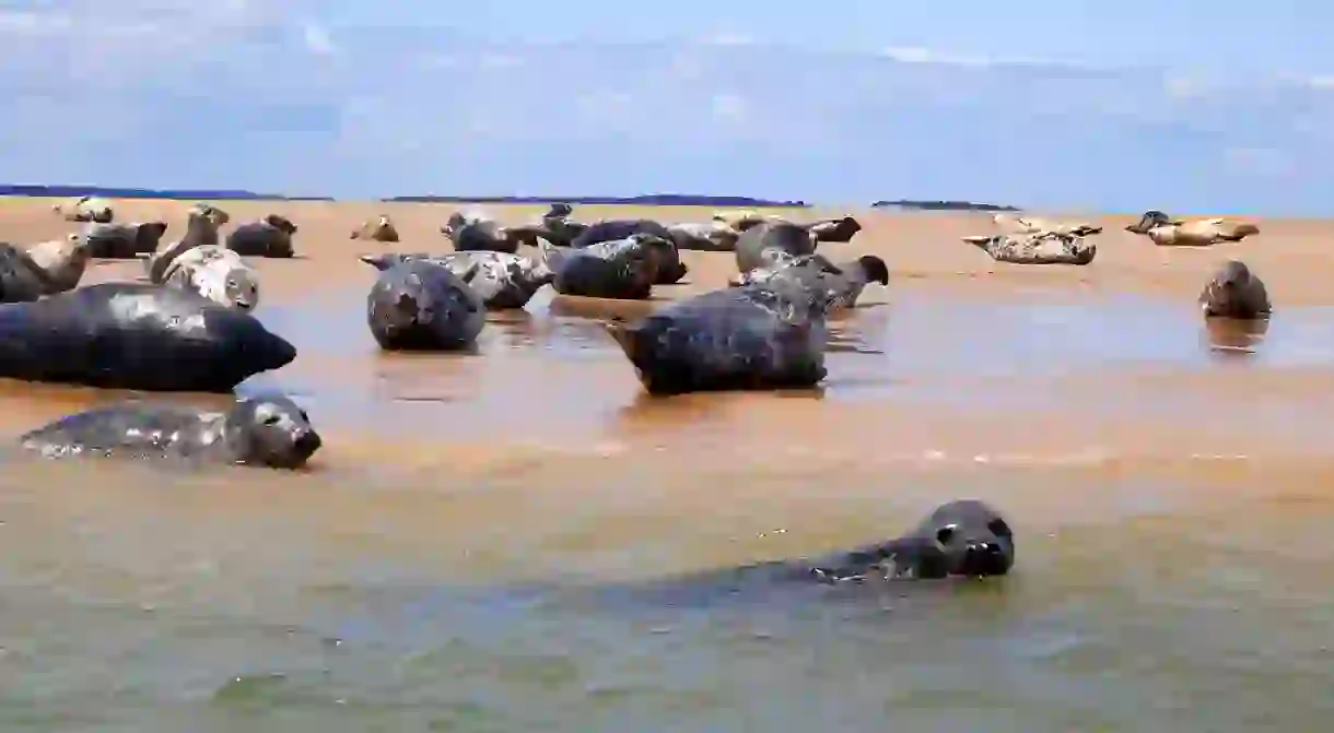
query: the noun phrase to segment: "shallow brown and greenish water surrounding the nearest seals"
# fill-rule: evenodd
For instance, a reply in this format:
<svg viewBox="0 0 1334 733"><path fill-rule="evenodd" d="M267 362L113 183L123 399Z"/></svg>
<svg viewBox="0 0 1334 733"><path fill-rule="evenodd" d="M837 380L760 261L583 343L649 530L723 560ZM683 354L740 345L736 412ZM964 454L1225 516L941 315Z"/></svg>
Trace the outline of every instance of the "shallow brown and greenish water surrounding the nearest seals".
<svg viewBox="0 0 1334 733"><path fill-rule="evenodd" d="M380 355L363 299L260 312L301 356L243 390L308 406L308 472L8 460L0 730L1317 730L1334 706L1334 309L1215 348L1190 303L907 285L836 324L820 390L651 400L544 295L474 356ZM112 397L0 398L19 432ZM1014 576L814 605L567 588L964 496L1017 526Z"/></svg>

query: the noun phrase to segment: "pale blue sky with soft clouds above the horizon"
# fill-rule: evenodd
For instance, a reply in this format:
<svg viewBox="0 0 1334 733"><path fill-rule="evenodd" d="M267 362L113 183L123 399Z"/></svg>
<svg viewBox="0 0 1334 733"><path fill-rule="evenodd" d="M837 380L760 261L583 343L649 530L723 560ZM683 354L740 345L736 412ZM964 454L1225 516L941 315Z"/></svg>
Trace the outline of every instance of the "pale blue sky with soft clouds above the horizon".
<svg viewBox="0 0 1334 733"><path fill-rule="evenodd" d="M627 5L0 0L0 181L1334 213L1334 5Z"/></svg>

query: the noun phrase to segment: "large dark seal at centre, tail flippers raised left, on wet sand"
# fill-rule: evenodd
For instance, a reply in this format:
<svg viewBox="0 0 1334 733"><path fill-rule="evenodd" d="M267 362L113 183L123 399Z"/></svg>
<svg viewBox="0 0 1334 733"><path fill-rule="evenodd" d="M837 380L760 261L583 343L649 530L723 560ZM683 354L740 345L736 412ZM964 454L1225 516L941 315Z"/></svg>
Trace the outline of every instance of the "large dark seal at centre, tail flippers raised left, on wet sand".
<svg viewBox="0 0 1334 733"><path fill-rule="evenodd" d="M826 376L826 299L792 281L667 304L611 333L650 394L811 388Z"/></svg>

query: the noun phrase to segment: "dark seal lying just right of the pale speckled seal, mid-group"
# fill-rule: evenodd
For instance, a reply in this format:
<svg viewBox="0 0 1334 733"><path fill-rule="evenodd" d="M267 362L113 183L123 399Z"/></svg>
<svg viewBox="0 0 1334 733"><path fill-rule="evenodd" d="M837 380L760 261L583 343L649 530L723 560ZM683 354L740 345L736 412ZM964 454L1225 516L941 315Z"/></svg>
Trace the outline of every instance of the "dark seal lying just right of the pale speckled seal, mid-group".
<svg viewBox="0 0 1334 733"><path fill-rule="evenodd" d="M671 251L675 247L670 240L643 233L571 249L542 243L542 257L555 273L551 284L558 293L615 300L648 299Z"/></svg>

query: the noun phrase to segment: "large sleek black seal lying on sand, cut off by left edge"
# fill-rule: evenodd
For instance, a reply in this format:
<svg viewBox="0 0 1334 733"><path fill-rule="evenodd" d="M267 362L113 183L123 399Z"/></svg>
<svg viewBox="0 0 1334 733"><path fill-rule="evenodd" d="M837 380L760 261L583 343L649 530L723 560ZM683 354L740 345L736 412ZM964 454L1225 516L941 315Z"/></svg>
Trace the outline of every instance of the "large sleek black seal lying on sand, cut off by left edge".
<svg viewBox="0 0 1334 733"><path fill-rule="evenodd" d="M147 283L100 283L0 305L0 377L229 392L293 359L296 348L253 316Z"/></svg>

